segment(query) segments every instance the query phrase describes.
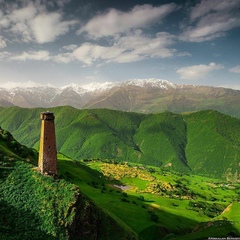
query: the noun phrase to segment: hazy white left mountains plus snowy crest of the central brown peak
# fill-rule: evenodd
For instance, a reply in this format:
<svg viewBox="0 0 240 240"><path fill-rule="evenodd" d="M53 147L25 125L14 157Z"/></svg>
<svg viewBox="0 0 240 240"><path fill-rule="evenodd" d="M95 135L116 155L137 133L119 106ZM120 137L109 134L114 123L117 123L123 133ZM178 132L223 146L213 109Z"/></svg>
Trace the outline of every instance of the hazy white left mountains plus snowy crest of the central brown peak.
<svg viewBox="0 0 240 240"><path fill-rule="evenodd" d="M172 89L177 85L162 79L130 79L125 82L92 82L88 84L71 83L64 87L34 82L0 84L0 96L3 100L20 107L52 107L71 105L87 106L94 99L110 96L112 92L121 91L122 87L140 87L151 91L155 89ZM116 88L111 92L113 88ZM136 89L137 91L137 89ZM103 97L104 99L104 97ZM98 101L98 100L96 100Z"/></svg>

